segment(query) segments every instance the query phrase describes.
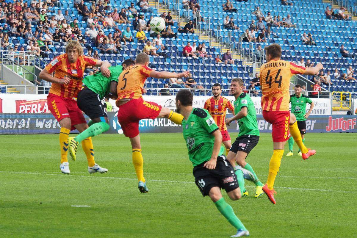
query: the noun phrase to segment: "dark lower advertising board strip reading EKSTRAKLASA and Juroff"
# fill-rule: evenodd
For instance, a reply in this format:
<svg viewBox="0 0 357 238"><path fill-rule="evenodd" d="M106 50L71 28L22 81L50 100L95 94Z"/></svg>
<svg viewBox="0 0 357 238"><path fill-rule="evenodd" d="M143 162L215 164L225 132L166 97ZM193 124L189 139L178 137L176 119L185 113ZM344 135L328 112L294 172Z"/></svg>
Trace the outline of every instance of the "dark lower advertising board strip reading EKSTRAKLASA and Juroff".
<svg viewBox="0 0 357 238"><path fill-rule="evenodd" d="M123 130L117 120L118 112L108 112L110 130L106 133L118 133ZM86 116L86 120L88 117ZM261 132L271 132L272 125L262 115L257 115L258 128ZM309 132L357 132L356 116L310 116L306 120L306 131ZM237 132L236 123L228 126L229 132ZM50 113L1 113L0 135L9 134L52 134L58 133L60 125ZM141 133L175 133L182 132L177 125L166 118L144 119L139 122ZM77 131L73 131L77 132Z"/></svg>

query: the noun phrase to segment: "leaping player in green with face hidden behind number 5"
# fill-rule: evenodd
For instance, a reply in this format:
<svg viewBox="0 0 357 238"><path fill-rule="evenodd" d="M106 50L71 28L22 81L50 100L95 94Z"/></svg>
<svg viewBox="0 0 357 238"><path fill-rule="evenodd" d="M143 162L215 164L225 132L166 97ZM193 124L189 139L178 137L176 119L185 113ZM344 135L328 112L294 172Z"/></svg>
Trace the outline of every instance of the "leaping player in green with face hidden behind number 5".
<svg viewBox="0 0 357 238"><path fill-rule="evenodd" d="M109 120L105 112L105 106L102 104L104 97L111 97L116 99L116 88L118 85L118 78L121 72L126 68L133 66L134 60L127 59L121 65L111 66L110 77L105 77L101 72L94 75L88 75L83 79L85 87L78 93L77 105L80 110L90 117L91 121L88 122L89 128L82 131L76 137L69 137L69 153L73 160L76 160L76 153L78 143L82 140L100 135L109 130ZM93 152L94 153L94 152Z"/></svg>

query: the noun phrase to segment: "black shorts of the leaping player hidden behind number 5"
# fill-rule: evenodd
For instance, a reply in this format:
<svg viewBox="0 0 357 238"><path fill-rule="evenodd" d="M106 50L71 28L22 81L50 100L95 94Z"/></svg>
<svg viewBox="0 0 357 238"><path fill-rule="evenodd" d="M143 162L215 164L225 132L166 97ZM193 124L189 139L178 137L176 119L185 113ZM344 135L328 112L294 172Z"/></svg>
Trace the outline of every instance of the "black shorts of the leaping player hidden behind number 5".
<svg viewBox="0 0 357 238"><path fill-rule="evenodd" d="M92 120L99 117L108 117L99 95L87 87L79 91L77 105Z"/></svg>

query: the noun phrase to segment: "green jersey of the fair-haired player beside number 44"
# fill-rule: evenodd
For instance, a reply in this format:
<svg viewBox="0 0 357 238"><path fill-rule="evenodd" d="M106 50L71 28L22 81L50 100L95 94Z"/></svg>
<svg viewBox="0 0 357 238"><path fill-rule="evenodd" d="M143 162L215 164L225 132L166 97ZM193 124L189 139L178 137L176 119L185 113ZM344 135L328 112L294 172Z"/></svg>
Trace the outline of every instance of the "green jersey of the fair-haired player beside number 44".
<svg viewBox="0 0 357 238"><path fill-rule="evenodd" d="M258 130L257 122L257 113L255 111L254 102L250 96L243 92L239 97L234 101L234 113L237 115L240 112L241 108L246 107L248 114L247 116L238 120L239 134L238 137L243 135L254 135L260 136Z"/></svg>

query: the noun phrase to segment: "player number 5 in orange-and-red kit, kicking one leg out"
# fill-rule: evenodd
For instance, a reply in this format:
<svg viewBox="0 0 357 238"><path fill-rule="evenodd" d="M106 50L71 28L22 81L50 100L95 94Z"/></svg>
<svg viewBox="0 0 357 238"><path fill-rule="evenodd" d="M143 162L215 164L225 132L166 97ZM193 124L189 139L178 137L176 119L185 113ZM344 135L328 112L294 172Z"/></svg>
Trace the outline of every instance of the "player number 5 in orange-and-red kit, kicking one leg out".
<svg viewBox="0 0 357 238"><path fill-rule="evenodd" d="M141 145L139 136L139 121L141 119L166 117L176 124L182 122L183 116L171 111L167 107L161 107L155 102L146 102L142 98L142 92L147 77L158 79L182 78L187 77L189 72L181 74L171 72L157 72L149 67L149 56L140 53L136 56L135 65L126 68L119 77L116 106L119 107L118 122L123 133L130 138L132 147L132 161L134 163L136 176L139 181L139 190L147 193L149 189L143 172L143 158L141 155Z"/></svg>

